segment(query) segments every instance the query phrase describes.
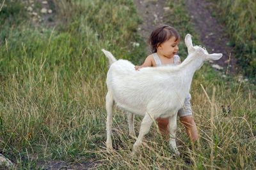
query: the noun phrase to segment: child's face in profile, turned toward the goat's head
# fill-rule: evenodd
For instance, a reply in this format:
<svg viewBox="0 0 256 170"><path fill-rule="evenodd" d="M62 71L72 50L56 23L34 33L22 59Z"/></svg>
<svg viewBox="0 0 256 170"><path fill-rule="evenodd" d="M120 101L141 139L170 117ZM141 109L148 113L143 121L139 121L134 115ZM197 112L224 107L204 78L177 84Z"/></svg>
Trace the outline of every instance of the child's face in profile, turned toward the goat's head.
<svg viewBox="0 0 256 170"><path fill-rule="evenodd" d="M180 40L175 41L175 36L172 36L170 39L164 41L157 47L157 52L164 55L164 57L172 58L173 55L177 54L179 50Z"/></svg>

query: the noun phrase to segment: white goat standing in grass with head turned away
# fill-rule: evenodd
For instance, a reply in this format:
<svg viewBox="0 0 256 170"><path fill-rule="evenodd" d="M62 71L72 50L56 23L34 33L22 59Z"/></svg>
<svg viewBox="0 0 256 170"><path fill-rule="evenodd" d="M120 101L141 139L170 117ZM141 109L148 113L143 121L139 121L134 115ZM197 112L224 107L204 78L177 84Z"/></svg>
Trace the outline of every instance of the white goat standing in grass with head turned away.
<svg viewBox="0 0 256 170"><path fill-rule="evenodd" d="M128 60L116 60L113 55L102 49L109 59L107 75L108 94L106 95L107 141L108 150L112 150L111 125L114 101L119 108L129 111L129 135L134 132L134 113L143 116L140 133L133 145L134 152L141 145L143 136L148 133L154 119L169 117L170 146L179 155L175 142L177 111L182 108L189 95L191 81L196 70L206 60L218 60L222 53L209 54L200 46L193 46L190 34L185 38L188 57L176 66L143 67L134 69Z"/></svg>

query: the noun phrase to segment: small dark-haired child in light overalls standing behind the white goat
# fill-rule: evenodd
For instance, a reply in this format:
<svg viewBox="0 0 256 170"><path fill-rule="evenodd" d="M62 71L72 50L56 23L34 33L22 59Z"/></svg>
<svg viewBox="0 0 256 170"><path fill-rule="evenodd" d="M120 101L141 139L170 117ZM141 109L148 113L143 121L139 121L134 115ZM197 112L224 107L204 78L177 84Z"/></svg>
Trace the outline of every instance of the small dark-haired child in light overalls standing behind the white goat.
<svg viewBox="0 0 256 170"><path fill-rule="evenodd" d="M177 55L179 41L179 32L173 27L168 25L157 27L148 39L153 53L148 55L141 66L135 66L135 69L139 70L141 67L157 67L165 64L180 64L180 57ZM191 112L190 99L189 94L184 101L184 108L178 111L178 115L180 122L186 127L186 132L192 143L195 143L195 141L199 143L198 131ZM169 118L158 118L157 122L161 134L167 137L169 134Z"/></svg>

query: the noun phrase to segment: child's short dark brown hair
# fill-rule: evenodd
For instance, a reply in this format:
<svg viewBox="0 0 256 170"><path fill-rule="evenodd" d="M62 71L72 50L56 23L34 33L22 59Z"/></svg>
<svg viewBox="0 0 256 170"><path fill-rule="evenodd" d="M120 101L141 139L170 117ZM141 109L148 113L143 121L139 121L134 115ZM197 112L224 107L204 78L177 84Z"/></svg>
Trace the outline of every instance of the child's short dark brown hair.
<svg viewBox="0 0 256 170"><path fill-rule="evenodd" d="M151 50L153 53L157 52L157 46L159 46L164 41L175 36L175 41L180 39L179 32L168 25L161 25L157 27L154 31L152 31L150 37L148 38L148 43L151 46Z"/></svg>

